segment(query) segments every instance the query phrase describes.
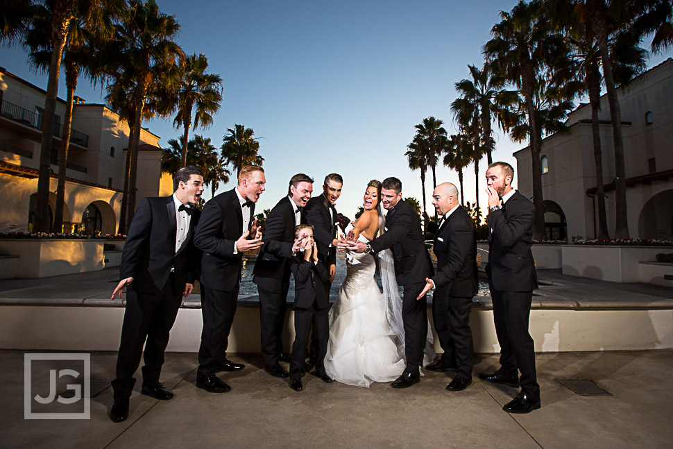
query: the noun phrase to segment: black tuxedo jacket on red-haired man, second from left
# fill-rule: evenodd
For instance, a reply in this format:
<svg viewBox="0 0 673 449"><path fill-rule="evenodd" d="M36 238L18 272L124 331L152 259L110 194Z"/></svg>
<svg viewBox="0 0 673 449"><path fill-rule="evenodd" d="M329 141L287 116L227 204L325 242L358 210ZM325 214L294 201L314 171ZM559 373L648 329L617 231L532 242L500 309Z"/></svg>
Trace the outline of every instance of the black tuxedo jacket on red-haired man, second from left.
<svg viewBox="0 0 673 449"><path fill-rule="evenodd" d="M205 203L194 235L194 245L203 251L201 283L221 291L232 291L241 279L243 253L234 254L234 244L244 232L243 213L234 189ZM254 217L255 203L250 205L250 225Z"/></svg>

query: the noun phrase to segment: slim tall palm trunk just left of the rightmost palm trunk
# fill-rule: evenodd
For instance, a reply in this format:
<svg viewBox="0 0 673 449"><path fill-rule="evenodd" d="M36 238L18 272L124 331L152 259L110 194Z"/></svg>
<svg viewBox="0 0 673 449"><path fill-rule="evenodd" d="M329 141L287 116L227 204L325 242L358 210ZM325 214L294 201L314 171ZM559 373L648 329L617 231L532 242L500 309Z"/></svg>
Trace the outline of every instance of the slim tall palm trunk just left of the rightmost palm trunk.
<svg viewBox="0 0 673 449"><path fill-rule="evenodd" d="M610 238L608 222L605 213L605 192L603 189L603 155L601 151L601 131L598 124L598 110L600 108L600 81L598 67L595 62L587 71L589 103L591 105L591 133L593 135L593 155L596 167L596 202L598 205L598 239Z"/></svg>

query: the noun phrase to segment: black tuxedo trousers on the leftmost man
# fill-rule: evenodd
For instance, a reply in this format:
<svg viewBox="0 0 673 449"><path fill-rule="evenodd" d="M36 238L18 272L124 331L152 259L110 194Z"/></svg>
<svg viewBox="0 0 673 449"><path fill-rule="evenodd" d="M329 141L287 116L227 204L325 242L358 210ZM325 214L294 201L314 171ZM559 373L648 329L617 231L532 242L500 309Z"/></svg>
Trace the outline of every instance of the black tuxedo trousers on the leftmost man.
<svg viewBox="0 0 673 449"><path fill-rule="evenodd" d="M133 375L141 358L145 362L142 367L143 383L154 385L159 382L164 351L181 303L182 292L176 289L173 273L157 294L135 291L133 284L126 289L126 310L117 355L117 378L112 381L114 398L130 395L133 391Z"/></svg>

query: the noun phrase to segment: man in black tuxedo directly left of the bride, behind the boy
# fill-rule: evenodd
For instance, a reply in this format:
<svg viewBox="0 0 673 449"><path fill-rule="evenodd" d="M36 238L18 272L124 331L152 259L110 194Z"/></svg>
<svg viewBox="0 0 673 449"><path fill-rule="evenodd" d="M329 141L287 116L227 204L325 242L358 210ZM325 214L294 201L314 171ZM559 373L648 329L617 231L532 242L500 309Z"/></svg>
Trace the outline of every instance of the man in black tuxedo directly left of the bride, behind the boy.
<svg viewBox="0 0 673 449"><path fill-rule="evenodd" d="M332 281L337 275L337 210L334 208L334 202L341 196L341 186L343 178L337 173L330 173L325 176L323 183L323 193L314 196L309 200L304 210L306 221L314 226L314 238L318 245L318 259L330 269L330 279L322 282L325 289L325 295L330 298L330 289ZM315 319L314 319L315 321ZM314 326L315 326L314 322ZM311 352L309 361L316 364L316 355L318 354L317 335L313 334L311 339Z"/></svg>

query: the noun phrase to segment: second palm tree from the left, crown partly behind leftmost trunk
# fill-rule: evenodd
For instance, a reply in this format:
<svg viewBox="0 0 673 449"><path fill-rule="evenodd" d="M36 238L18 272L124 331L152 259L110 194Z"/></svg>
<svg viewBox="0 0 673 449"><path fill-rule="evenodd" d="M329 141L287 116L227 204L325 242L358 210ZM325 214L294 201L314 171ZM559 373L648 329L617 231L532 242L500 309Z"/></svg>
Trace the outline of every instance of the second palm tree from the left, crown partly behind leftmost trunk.
<svg viewBox="0 0 673 449"><path fill-rule="evenodd" d="M48 32L51 21L51 10L46 6L36 6L31 26L24 35L24 46L30 50L28 60L39 71L49 70L51 59L51 34ZM63 227L63 210L65 203L65 178L67 173L67 158L70 144L73 99L80 72L84 72L90 79L102 79L101 66L96 65L94 47L96 40L105 39L112 35L112 19L114 10L103 10L104 17L100 22L103 26L91 30L81 17L73 17L69 24L69 31L63 50L63 66L65 68L65 84L67 99L65 119L61 134L61 143L58 147L58 186L56 187L56 207L54 210L53 230L61 232Z"/></svg>

